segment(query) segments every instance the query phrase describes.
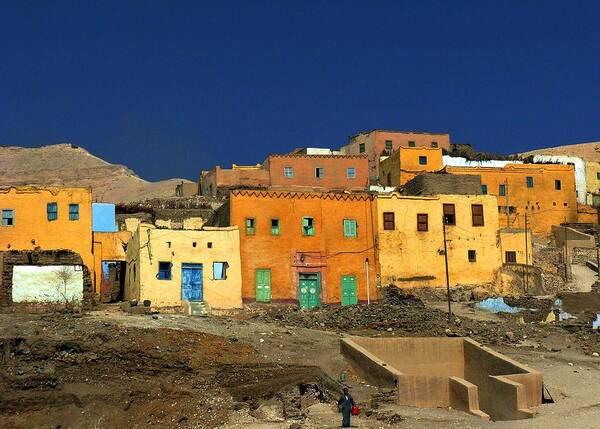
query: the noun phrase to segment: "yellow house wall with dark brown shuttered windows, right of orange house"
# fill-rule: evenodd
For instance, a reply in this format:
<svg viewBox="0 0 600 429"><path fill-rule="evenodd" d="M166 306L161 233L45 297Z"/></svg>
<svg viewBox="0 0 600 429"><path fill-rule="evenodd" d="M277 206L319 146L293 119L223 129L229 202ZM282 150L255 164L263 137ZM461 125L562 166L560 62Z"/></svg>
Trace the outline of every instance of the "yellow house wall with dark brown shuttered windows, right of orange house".
<svg viewBox="0 0 600 429"><path fill-rule="evenodd" d="M397 287L445 286L442 205L455 204L456 225L447 225L450 285L494 281L502 265L497 237L498 211L491 195L377 197L381 284ZM483 205L484 226L472 226L471 205ZM383 229L383 213L395 214L395 230ZM417 231L417 214L428 214L428 231ZM468 250L476 251L469 262Z"/></svg>

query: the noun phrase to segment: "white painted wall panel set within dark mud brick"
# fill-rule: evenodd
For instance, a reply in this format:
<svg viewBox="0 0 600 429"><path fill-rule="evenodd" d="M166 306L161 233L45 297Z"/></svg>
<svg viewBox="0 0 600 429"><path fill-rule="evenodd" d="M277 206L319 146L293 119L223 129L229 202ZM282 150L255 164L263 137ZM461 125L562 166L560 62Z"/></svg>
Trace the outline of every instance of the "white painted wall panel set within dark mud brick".
<svg viewBox="0 0 600 429"><path fill-rule="evenodd" d="M58 272L70 274L66 288ZM13 302L81 302L83 271L81 265L15 265L13 267Z"/></svg>

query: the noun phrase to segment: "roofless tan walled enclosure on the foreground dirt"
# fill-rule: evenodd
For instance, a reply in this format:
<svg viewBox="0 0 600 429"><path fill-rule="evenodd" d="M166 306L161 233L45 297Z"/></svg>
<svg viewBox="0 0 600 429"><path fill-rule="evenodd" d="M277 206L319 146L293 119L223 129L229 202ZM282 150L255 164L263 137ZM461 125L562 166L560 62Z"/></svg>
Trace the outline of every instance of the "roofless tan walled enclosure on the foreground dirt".
<svg viewBox="0 0 600 429"><path fill-rule="evenodd" d="M400 405L516 420L542 403L540 372L469 338L351 337L341 351L369 382L396 388Z"/></svg>

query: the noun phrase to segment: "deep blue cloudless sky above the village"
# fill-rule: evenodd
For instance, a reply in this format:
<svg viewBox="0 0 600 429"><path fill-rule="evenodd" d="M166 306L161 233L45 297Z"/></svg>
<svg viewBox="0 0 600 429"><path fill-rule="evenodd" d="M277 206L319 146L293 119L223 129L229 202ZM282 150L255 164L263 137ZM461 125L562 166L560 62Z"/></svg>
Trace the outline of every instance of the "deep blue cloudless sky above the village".
<svg viewBox="0 0 600 429"><path fill-rule="evenodd" d="M372 128L600 140L599 23L594 0L1 1L0 145L161 179Z"/></svg>

